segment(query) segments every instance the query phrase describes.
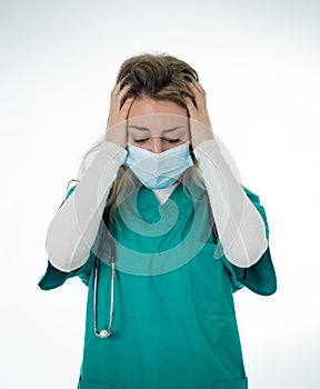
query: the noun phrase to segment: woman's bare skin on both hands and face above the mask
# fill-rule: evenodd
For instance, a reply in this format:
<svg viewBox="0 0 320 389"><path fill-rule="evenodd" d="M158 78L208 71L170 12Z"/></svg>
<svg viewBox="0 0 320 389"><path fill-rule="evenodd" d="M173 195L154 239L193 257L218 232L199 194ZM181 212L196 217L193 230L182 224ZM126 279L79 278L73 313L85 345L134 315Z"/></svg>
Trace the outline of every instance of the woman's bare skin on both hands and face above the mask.
<svg viewBox="0 0 320 389"><path fill-rule="evenodd" d="M111 92L106 140L123 148L129 141L159 153L188 140L196 148L200 142L213 139L206 91L194 79L188 81L187 86L194 96L196 104L186 96L186 109L172 101L152 100L149 97L127 99L121 107L130 86L120 90L120 83L116 84Z"/></svg>

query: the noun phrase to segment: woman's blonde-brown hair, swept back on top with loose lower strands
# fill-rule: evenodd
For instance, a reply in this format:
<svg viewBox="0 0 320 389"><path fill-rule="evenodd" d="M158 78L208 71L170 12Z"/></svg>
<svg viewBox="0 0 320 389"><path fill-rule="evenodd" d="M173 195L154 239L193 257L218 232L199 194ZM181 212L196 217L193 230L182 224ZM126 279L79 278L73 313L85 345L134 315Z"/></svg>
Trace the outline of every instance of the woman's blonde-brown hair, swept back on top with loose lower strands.
<svg viewBox="0 0 320 389"><path fill-rule="evenodd" d="M127 59L120 67L117 83L121 83L121 88L130 84L131 89L124 96L121 104L130 98L149 97L153 100L169 100L179 106L187 108L183 94L191 98L196 104L194 97L187 88L186 81L191 79L198 80L197 71L187 62L181 61L167 53L162 54L139 54ZM86 171L86 158L92 152L98 151L103 142L103 138L98 140L82 158L82 172ZM198 173L197 160L190 149L194 167L188 169L181 177L181 181L190 183L193 181L199 187L204 187L201 176ZM81 169L81 168L80 168ZM109 216L114 222L114 215L118 206L124 201L137 188L139 183L136 176L130 169L121 166L118 176L111 188L107 207Z"/></svg>

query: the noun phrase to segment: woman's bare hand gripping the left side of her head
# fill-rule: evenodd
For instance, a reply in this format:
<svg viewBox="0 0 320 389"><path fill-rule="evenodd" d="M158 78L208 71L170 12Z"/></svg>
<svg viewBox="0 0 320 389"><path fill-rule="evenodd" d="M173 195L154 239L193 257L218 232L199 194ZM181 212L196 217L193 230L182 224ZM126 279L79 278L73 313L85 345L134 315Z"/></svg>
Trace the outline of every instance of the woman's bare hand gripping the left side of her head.
<svg viewBox="0 0 320 389"><path fill-rule="evenodd" d="M128 139L127 118L134 98L131 97L127 99L121 107L121 101L129 92L131 86L126 84L122 89L120 89L120 86L121 82L117 83L111 92L110 111L107 121L104 140L126 148Z"/></svg>

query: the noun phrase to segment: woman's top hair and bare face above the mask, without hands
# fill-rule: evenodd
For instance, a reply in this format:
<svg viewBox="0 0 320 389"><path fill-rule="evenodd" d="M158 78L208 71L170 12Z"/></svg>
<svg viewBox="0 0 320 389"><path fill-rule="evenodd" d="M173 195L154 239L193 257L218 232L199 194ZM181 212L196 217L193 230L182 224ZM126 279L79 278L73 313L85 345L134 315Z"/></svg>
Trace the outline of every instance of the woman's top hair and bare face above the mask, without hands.
<svg viewBox="0 0 320 389"><path fill-rule="evenodd" d="M128 141L156 153L190 140L183 94L193 99L186 81L198 74L188 63L168 54L141 54L121 66L117 83L130 84L134 97L128 114Z"/></svg>

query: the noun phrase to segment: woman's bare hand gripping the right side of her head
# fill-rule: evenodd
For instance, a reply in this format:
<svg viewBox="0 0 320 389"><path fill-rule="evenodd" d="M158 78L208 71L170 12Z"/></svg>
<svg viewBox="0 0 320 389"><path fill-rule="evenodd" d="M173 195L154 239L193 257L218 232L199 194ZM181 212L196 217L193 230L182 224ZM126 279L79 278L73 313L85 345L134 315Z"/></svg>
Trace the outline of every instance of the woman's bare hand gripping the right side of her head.
<svg viewBox="0 0 320 389"><path fill-rule="evenodd" d="M193 149L204 140L213 139L210 118L207 109L207 96L202 86L194 79L187 81L187 87L194 96L196 106L190 97L184 96L190 116L191 144Z"/></svg>

